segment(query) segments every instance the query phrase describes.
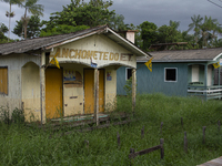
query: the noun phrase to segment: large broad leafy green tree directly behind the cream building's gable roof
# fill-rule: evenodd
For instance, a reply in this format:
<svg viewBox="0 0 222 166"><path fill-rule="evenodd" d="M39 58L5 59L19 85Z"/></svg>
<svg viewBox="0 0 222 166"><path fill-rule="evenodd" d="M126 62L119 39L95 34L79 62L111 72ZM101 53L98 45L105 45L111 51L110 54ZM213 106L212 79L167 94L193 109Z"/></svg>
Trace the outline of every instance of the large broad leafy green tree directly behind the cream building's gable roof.
<svg viewBox="0 0 222 166"><path fill-rule="evenodd" d="M71 3L63 7L61 12L51 13L50 20L44 21L43 31L51 30L59 24L89 25L90 28L105 24L114 14L114 11L108 10L111 6L112 1L90 0L87 3L71 0Z"/></svg>

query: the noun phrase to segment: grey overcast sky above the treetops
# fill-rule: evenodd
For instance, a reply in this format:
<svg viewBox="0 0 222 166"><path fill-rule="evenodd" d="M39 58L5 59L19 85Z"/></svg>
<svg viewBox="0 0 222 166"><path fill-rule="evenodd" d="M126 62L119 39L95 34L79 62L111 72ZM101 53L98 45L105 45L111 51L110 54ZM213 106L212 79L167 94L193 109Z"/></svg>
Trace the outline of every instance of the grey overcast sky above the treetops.
<svg viewBox="0 0 222 166"><path fill-rule="evenodd" d="M87 1L87 0L84 0ZM222 6L221 0L211 0ZM62 6L67 6L71 0L39 0L39 4L44 6L44 17L42 20L49 20L50 13L62 11ZM109 8L115 10L115 13L124 17L124 23L141 24L143 21L155 23L158 27L168 24L170 20L180 21L180 30L188 30L191 23L191 17L200 14L218 19L222 23L222 8L209 2L208 0L113 0L113 6ZM9 19L6 17L9 11L9 4L0 1L0 22L9 25ZM11 19L11 30L14 28L16 20L20 20L24 9L12 6L16 17ZM8 34L6 34L8 35ZM11 38L19 39L11 32Z"/></svg>

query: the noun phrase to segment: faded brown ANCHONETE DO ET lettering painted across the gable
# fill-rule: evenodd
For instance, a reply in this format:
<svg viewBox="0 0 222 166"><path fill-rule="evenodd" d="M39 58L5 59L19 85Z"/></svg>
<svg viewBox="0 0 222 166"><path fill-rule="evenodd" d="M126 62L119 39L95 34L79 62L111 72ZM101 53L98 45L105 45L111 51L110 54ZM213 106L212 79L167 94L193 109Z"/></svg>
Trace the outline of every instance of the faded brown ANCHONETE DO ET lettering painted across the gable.
<svg viewBox="0 0 222 166"><path fill-rule="evenodd" d="M50 58L65 58L65 59L94 59L102 61L133 61L132 53L114 53L103 51L90 51L90 50L78 50L78 49L65 49L58 48L56 53L50 54Z"/></svg>

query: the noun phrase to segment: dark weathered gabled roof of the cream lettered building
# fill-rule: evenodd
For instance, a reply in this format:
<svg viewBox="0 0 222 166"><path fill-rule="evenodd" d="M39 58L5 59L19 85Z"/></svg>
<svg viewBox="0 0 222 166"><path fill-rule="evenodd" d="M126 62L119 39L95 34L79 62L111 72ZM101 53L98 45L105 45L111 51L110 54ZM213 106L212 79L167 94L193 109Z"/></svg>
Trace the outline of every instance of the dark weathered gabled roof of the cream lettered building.
<svg viewBox="0 0 222 166"><path fill-rule="evenodd" d="M143 52L138 46L135 46L129 40L122 38L108 25L100 25L82 31L77 31L73 33L68 34L59 34L59 35L51 35L51 37L43 37L43 38L36 38L36 39L28 39L22 40L13 43L4 43L0 44L0 55L8 55L11 53L24 53L30 51L37 50L48 50L53 46L62 45L68 42L72 42L92 34L100 34L103 33L121 46L125 48L127 50L131 51L133 54L139 56L149 56L149 53Z"/></svg>

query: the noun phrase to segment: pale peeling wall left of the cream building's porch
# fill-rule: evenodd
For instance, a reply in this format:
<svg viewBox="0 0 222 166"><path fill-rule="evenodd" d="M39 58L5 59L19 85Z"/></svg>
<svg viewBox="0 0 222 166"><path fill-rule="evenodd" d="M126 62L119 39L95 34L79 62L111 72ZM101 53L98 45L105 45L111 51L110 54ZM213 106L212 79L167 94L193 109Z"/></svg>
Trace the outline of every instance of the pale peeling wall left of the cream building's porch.
<svg viewBox="0 0 222 166"><path fill-rule="evenodd" d="M22 106L21 68L27 62L40 63L40 56L29 54L11 54L0 56L0 66L8 66L8 95L0 94L0 106L12 111Z"/></svg>

